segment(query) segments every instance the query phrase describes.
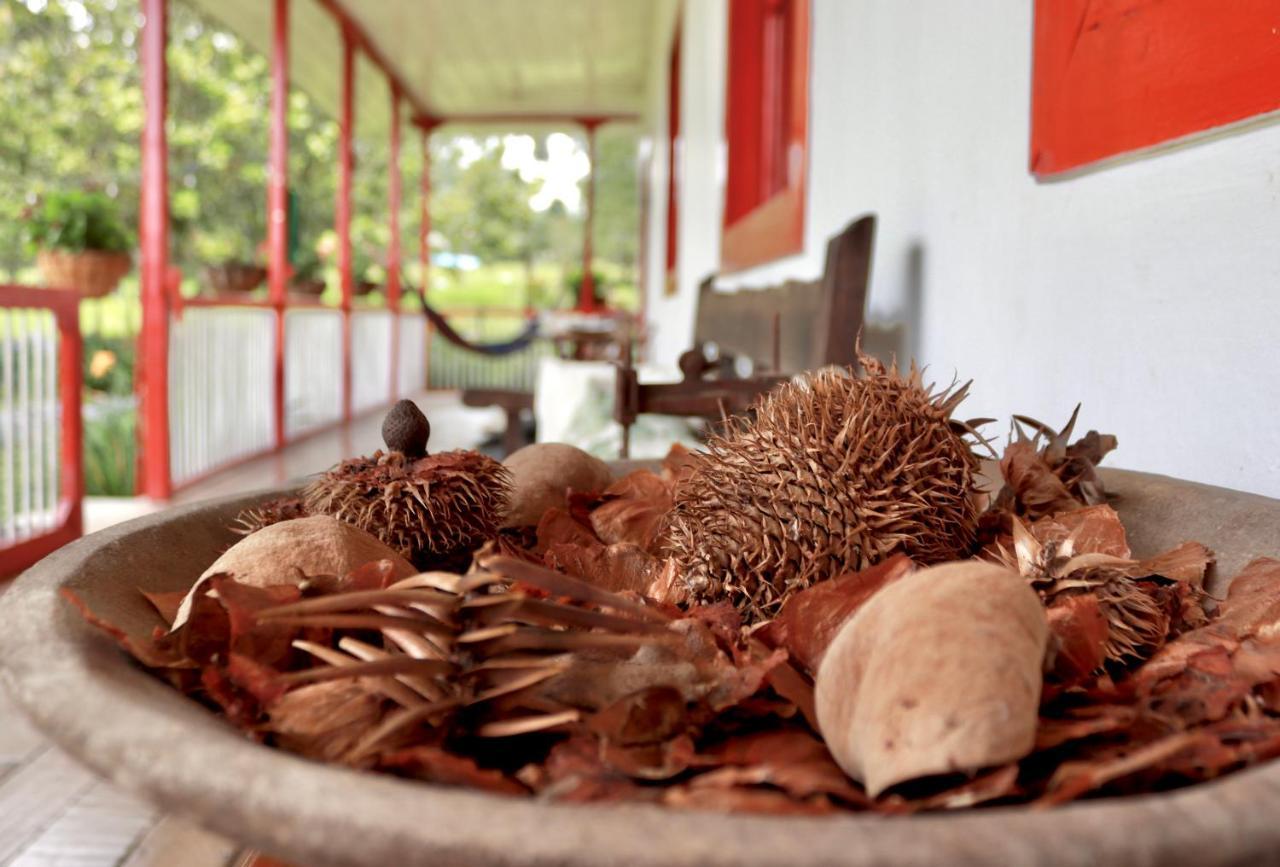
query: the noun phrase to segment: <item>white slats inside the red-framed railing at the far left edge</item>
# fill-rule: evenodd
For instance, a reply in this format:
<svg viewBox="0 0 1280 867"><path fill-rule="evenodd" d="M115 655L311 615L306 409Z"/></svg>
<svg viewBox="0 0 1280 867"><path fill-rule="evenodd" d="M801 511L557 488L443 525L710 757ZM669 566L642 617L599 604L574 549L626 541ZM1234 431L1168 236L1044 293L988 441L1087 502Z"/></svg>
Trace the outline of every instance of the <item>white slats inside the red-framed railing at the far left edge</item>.
<svg viewBox="0 0 1280 867"><path fill-rule="evenodd" d="M59 524L58 327L49 310L0 309L0 543Z"/></svg>

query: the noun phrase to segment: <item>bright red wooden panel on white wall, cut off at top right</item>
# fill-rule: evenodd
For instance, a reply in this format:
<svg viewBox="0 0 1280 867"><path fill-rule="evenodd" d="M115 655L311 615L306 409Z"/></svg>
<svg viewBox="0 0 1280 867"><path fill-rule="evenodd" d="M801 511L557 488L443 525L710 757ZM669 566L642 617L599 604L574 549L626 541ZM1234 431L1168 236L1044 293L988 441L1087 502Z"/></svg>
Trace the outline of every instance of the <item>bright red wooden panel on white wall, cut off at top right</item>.
<svg viewBox="0 0 1280 867"><path fill-rule="evenodd" d="M1280 110L1277 0L1036 0L1030 170Z"/></svg>

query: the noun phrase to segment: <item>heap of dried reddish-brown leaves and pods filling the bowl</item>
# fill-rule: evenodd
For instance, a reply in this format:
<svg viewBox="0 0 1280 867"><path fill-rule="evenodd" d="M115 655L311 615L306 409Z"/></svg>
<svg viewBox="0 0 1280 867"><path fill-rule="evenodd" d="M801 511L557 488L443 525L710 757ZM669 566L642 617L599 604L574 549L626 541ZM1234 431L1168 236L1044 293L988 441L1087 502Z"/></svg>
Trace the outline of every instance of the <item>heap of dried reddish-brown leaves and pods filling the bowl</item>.
<svg viewBox="0 0 1280 867"><path fill-rule="evenodd" d="M943 485L952 493L940 502L959 514L977 508L968 452L960 475L947 461L913 460L929 437L950 443L973 433L974 424L947 420L963 391L929 397L918 377L892 380L874 365L869 377L876 388L904 391L913 412L942 426L896 425L911 439L895 444L892 430L860 426L850 401L820 410L826 423L838 416L861 432L820 429L828 451L850 448L837 455L841 465L870 461L868 473L882 474L876 489L902 503L924 502L920 485L934 494ZM814 394L865 391L822 377L810 385L782 400L803 414ZM416 417L401 407L389 424L389 453L406 456L406 466L422 460L416 452L426 442ZM220 562L255 574L212 570L188 593L146 594L165 624L179 625L141 634L65 594L145 666L264 743L512 797L911 813L1158 791L1280 754L1280 561L1249 563L1215 601L1204 590L1212 555L1203 546L1134 558L1096 473L1115 439L1089 432L1070 442L1075 417L1062 432L1019 419L1034 435L1016 428L1000 461L1004 487L974 533L937 529L973 543L956 551L960 562L934 570L913 561L909 546L872 553L867 528L854 526L832 557L849 569L812 572L817 561L805 552L820 553L836 525L797 510L799 498L824 493L822 473L806 469L804 485L780 494L785 533L764 543L791 558L790 579L760 574L750 583L778 590L767 604L745 604L733 588L748 584L736 579L708 593L714 583L690 580L690 548L672 548L672 528L690 533L691 512L680 503L717 489L699 475L707 460L684 450L660 470L598 490L552 483L549 494L538 492L550 505L535 523L494 515L508 484L512 501L530 502L521 474L508 483L480 456L457 453L458 466L484 469L470 484L498 484L462 521L486 529L451 552L453 571L406 575L390 556L339 574L273 562L282 580L236 566L261 557L233 547ZM768 435L756 433L746 447L759 456ZM868 437L882 451L855 448ZM905 460L886 470L886 453ZM753 508L767 514L777 467L722 453L716 479L730 466L742 474L737 490L755 492ZM928 479L931 466L950 475ZM768 478L751 478L758 471ZM390 502L375 475L364 476L361 496ZM545 487L545 475L536 484ZM384 482L399 485L394 496L403 489L399 475ZM852 496L826 493L832 502ZM468 507L466 497L451 502ZM905 508L873 498L865 514L925 520ZM378 523L393 511L364 512L364 529L406 538L406 528L388 533ZM244 517L274 525L306 514L306 503L285 499ZM430 510L416 520L422 526L410 530L424 539L445 538ZM698 544L746 542L713 534ZM709 549L696 561L739 570L750 562L741 553ZM954 581L977 589L959 592ZM1025 640L1006 640L1010 630ZM940 665L959 642L965 653L952 661L963 665ZM1002 708L1016 713L1006 718ZM997 718L1005 729L991 727ZM934 731L946 749L911 745Z"/></svg>

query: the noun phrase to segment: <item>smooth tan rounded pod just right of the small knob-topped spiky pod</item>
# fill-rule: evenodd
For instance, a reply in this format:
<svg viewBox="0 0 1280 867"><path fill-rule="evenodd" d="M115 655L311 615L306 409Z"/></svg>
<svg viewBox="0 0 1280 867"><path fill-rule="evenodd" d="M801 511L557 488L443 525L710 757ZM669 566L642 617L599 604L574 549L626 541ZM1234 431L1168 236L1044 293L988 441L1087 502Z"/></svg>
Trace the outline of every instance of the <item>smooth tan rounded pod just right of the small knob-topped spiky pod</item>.
<svg viewBox="0 0 1280 867"><path fill-rule="evenodd" d="M613 482L608 464L564 443L534 443L512 452L503 465L511 471L511 508L503 526L535 526L543 514L566 508L568 490L604 490Z"/></svg>

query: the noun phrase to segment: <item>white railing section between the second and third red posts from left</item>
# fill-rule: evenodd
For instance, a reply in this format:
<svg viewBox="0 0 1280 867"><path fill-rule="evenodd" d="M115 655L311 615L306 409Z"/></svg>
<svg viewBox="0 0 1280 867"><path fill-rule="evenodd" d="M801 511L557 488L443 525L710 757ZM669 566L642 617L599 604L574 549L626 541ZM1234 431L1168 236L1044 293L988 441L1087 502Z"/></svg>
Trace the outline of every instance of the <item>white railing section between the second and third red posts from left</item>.
<svg viewBox="0 0 1280 867"><path fill-rule="evenodd" d="M284 432L291 439L342 419L342 311L284 314Z"/></svg>

